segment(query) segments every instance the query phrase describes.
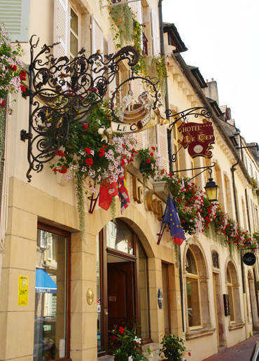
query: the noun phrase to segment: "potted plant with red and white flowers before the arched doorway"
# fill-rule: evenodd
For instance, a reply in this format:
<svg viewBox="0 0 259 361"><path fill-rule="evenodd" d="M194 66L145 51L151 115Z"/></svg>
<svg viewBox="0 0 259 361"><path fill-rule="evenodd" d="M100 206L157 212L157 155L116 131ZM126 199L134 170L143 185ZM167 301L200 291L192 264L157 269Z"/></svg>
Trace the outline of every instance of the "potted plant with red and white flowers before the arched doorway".
<svg viewBox="0 0 259 361"><path fill-rule="evenodd" d="M113 346L111 352L114 355L114 361L148 360L142 353L143 343L136 329L130 330L122 326L117 329L116 325L111 332L110 344Z"/></svg>

